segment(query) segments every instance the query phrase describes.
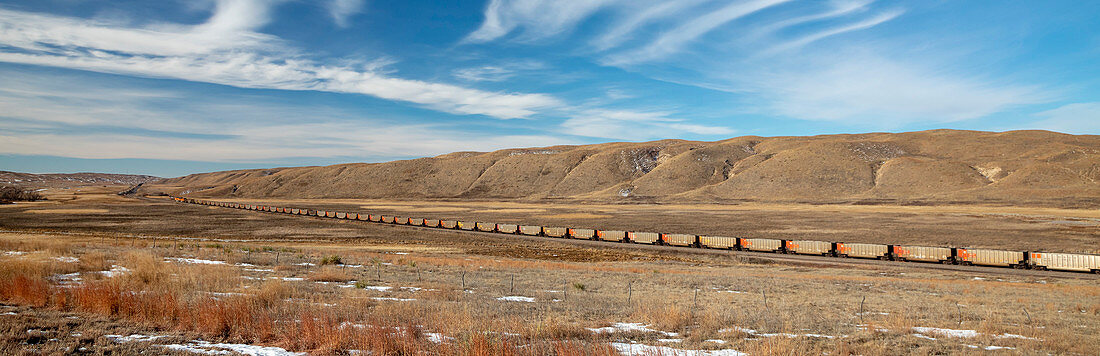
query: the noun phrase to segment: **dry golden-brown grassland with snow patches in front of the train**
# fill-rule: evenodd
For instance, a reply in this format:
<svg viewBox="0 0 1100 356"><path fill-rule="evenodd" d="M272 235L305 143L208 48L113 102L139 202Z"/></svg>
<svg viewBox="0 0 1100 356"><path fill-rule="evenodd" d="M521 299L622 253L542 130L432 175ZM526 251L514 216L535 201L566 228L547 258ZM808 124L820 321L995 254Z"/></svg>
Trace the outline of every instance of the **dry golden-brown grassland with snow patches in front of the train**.
<svg viewBox="0 0 1100 356"><path fill-rule="evenodd" d="M376 355L1089 355L1100 347L1100 286L1076 275L761 264L210 209L117 190L47 190L47 202L0 208L0 352L222 344ZM522 214L558 208L538 209L547 212ZM134 334L144 337L124 337Z"/></svg>

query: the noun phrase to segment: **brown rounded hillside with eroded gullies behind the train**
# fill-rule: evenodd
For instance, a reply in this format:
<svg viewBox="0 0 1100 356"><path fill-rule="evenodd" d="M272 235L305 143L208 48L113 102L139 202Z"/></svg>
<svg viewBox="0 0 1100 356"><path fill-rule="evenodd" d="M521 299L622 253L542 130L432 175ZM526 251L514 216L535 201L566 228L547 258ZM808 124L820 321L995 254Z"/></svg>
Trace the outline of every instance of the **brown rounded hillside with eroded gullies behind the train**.
<svg viewBox="0 0 1100 356"><path fill-rule="evenodd" d="M1100 136L936 130L666 140L219 171L193 197L1100 205Z"/></svg>

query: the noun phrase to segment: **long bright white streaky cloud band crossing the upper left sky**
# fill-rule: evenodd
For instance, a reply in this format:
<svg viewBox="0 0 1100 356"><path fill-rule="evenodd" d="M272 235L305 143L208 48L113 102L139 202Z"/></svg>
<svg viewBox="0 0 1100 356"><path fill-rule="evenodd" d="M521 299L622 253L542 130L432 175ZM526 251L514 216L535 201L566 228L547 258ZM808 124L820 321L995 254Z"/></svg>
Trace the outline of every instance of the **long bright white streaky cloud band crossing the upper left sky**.
<svg viewBox="0 0 1100 356"><path fill-rule="evenodd" d="M527 118L561 105L548 94L491 92L403 79L292 55L278 38L253 32L267 1L222 0L202 24L131 29L0 10L0 62L175 78L242 88L367 94L459 114Z"/></svg>

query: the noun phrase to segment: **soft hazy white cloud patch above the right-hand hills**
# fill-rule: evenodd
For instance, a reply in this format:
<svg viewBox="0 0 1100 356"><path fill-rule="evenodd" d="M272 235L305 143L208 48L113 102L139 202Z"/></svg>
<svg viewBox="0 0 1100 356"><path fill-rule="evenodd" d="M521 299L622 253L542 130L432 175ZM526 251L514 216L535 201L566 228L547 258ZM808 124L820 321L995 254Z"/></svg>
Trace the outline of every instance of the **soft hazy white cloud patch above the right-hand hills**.
<svg viewBox="0 0 1100 356"><path fill-rule="evenodd" d="M784 66L788 67L788 66ZM795 119L873 126L953 122L1049 100L1040 88L1005 86L866 54L822 55L748 79L770 111Z"/></svg>

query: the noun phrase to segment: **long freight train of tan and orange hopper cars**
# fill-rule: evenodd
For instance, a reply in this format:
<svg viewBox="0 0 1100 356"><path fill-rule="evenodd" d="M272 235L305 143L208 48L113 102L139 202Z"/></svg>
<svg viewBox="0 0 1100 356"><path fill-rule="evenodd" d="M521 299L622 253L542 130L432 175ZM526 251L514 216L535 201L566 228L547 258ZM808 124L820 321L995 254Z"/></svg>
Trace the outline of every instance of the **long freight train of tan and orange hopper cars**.
<svg viewBox="0 0 1100 356"><path fill-rule="evenodd" d="M560 238L595 240L605 242L669 245L695 248L721 248L769 252L781 254L818 255L831 257L877 258L884 260L941 263L1041 270L1065 270L1100 274L1100 255L1063 254L1045 252L1016 252L987 248L935 247L913 245L883 245L805 240L749 238L692 234L662 234L652 232L613 231L595 229L554 227L521 224L497 224L458 220L403 218L382 214L334 212L297 208L242 204L173 197L177 202L224 207L244 210L277 212L295 215L360 220L388 224L415 225L438 229L492 232L501 234L547 236Z"/></svg>

